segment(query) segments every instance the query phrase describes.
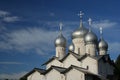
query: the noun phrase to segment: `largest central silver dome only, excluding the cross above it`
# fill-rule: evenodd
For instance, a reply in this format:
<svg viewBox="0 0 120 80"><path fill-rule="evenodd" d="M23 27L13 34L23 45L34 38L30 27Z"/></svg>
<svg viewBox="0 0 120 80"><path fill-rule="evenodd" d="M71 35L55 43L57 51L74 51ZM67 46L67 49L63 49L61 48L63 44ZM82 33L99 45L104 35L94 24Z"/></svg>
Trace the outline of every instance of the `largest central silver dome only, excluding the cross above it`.
<svg viewBox="0 0 120 80"><path fill-rule="evenodd" d="M72 39L84 37L88 32L88 29L85 27L80 27L72 33Z"/></svg>

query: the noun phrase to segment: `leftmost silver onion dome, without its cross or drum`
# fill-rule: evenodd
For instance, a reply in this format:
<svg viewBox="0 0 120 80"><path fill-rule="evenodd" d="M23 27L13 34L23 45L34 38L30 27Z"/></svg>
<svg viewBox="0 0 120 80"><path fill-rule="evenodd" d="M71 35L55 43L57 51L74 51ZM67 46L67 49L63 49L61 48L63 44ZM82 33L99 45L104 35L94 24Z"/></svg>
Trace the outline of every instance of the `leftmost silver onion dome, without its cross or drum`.
<svg viewBox="0 0 120 80"><path fill-rule="evenodd" d="M66 46L66 39L65 39L65 37L62 35L62 34L60 34L57 38L56 38L56 40L55 40L55 46L57 47L57 46L61 46L61 47L65 47Z"/></svg>

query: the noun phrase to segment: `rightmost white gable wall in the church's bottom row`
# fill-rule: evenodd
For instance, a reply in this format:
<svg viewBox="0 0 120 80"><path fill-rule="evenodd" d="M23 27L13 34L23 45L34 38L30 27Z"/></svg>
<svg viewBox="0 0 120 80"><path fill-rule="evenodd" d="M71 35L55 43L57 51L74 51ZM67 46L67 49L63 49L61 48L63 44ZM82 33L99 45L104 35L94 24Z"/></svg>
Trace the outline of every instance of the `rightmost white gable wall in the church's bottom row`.
<svg viewBox="0 0 120 80"><path fill-rule="evenodd" d="M71 69L65 74L66 80L85 80L85 75L76 69Z"/></svg>

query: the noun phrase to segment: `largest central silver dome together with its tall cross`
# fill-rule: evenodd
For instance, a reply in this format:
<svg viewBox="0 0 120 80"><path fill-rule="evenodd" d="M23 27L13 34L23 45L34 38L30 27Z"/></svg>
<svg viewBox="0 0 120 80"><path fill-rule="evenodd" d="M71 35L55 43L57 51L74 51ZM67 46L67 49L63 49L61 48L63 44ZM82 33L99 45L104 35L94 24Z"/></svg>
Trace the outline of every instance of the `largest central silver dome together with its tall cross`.
<svg viewBox="0 0 120 80"><path fill-rule="evenodd" d="M80 16L80 27L72 33L72 39L83 38L88 32L88 29L86 29L83 26L83 22L82 22L83 13L81 11L80 11L79 16Z"/></svg>

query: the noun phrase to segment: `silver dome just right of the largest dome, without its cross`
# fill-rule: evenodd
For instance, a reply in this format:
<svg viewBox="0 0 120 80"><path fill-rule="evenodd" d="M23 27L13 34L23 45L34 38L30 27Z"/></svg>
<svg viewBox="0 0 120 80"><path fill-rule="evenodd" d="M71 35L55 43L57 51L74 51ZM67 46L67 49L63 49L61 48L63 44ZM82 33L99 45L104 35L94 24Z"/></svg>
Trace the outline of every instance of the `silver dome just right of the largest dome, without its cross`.
<svg viewBox="0 0 120 80"><path fill-rule="evenodd" d="M85 36L85 42L87 43L97 43L97 36L92 31L89 31Z"/></svg>

